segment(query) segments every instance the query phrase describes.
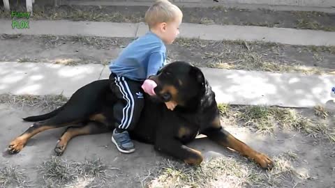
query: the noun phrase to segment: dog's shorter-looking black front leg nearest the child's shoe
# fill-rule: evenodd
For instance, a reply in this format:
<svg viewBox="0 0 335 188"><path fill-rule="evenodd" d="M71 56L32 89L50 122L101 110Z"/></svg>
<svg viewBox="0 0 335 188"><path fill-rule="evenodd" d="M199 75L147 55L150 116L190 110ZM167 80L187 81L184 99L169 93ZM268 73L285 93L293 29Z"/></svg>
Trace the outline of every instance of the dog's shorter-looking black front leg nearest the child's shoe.
<svg viewBox="0 0 335 188"><path fill-rule="evenodd" d="M155 149L190 165L199 165L204 159L200 151L188 148L174 139L160 137L156 140Z"/></svg>

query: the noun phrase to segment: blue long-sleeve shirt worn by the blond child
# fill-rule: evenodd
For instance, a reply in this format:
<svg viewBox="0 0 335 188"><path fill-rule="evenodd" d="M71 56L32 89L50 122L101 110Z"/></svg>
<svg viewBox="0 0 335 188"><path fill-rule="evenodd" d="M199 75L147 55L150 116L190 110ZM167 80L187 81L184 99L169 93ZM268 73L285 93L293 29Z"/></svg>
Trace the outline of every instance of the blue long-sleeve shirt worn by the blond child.
<svg viewBox="0 0 335 188"><path fill-rule="evenodd" d="M144 81L163 67L166 47L155 33L149 31L129 44L109 65L114 74L136 81Z"/></svg>

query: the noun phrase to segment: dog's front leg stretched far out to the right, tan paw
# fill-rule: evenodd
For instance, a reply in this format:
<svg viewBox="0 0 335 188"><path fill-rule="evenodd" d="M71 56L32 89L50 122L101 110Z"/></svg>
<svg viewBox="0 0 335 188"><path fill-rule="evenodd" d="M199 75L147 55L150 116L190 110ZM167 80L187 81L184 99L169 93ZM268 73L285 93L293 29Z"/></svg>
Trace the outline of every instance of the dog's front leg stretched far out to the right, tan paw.
<svg viewBox="0 0 335 188"><path fill-rule="evenodd" d="M269 159L269 157L267 157L267 155L253 150L251 147L247 146L246 143L239 141L239 139L236 139L222 127L210 127L202 132L202 134L205 134L209 139L215 141L221 146L232 148L233 150L240 152L241 155L255 160L255 162L262 166L263 169L272 169L274 166L273 162Z"/></svg>

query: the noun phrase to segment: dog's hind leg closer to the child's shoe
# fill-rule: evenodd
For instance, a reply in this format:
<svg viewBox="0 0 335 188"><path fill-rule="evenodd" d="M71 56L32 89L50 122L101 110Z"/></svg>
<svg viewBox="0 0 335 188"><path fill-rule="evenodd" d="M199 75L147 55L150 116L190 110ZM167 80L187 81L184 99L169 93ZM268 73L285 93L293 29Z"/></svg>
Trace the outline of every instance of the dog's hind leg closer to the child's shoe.
<svg viewBox="0 0 335 188"><path fill-rule="evenodd" d="M87 125L84 125L84 127L68 127L57 142L57 145L54 148L54 152L56 152L57 155L63 155L63 152L68 145L68 141L70 141L70 139L75 136L84 134L101 134L108 131L109 130L105 125L96 123L89 123Z"/></svg>

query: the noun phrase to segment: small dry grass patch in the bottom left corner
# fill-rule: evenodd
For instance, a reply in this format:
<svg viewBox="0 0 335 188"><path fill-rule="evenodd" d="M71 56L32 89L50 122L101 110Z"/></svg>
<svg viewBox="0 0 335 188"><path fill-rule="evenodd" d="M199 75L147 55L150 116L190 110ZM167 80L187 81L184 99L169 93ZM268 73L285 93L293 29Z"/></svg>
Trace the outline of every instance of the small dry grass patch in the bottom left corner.
<svg viewBox="0 0 335 188"><path fill-rule="evenodd" d="M31 185L27 181L27 175L17 169L17 166L1 164L0 187L31 187Z"/></svg>

